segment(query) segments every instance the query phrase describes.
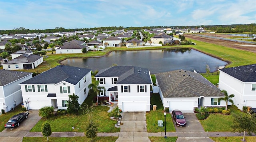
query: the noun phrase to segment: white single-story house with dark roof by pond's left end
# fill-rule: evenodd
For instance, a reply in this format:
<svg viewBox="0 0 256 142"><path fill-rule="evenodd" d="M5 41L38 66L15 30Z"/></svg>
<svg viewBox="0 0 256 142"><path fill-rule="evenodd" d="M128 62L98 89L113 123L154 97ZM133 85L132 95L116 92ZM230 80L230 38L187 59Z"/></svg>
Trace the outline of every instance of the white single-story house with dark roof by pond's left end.
<svg viewBox="0 0 256 142"><path fill-rule="evenodd" d="M36 68L44 62L43 56L34 54L22 54L4 64L2 64L5 70L25 70Z"/></svg>

